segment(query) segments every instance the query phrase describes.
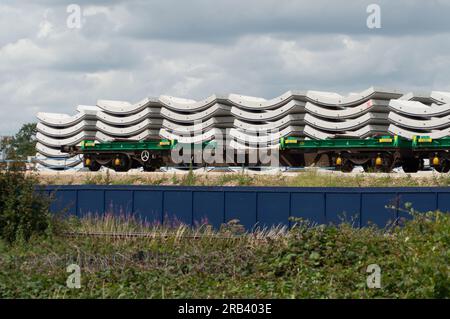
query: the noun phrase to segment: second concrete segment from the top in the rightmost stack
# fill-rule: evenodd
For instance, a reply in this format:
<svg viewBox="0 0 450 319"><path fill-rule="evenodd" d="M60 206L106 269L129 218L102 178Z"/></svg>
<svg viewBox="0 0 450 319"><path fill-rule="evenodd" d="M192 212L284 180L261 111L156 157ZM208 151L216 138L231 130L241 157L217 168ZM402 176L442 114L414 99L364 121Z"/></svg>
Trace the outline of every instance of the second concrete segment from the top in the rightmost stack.
<svg viewBox="0 0 450 319"><path fill-rule="evenodd" d="M450 104L431 104L428 106L418 101L391 100L389 101L389 109L397 113L420 117L450 114Z"/></svg>

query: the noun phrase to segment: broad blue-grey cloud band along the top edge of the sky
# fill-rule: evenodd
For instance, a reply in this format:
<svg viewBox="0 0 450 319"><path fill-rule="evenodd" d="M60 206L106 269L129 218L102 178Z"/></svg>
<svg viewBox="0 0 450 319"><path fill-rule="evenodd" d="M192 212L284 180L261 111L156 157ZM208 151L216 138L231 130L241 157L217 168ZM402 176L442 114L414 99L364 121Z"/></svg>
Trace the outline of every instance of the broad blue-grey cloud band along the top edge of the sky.
<svg viewBox="0 0 450 319"><path fill-rule="evenodd" d="M121 32L139 38L223 41L245 34L417 34L450 29L444 1L376 1L380 30L366 27L368 1L189 1L138 2ZM145 24L143 23L145 21Z"/></svg>

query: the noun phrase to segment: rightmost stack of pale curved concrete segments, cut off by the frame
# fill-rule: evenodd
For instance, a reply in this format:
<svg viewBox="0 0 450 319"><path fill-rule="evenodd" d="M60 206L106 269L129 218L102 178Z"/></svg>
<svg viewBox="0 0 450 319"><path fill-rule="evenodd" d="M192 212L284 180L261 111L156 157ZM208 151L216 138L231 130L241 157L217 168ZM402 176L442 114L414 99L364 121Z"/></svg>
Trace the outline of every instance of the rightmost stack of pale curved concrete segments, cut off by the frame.
<svg viewBox="0 0 450 319"><path fill-rule="evenodd" d="M412 139L414 136L450 136L450 93L405 94L389 101L389 132Z"/></svg>

